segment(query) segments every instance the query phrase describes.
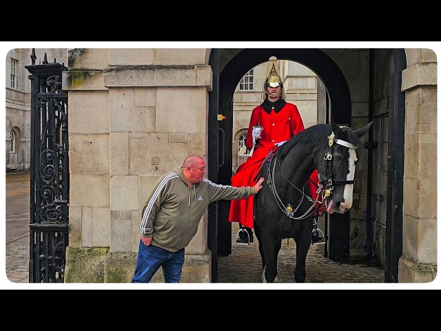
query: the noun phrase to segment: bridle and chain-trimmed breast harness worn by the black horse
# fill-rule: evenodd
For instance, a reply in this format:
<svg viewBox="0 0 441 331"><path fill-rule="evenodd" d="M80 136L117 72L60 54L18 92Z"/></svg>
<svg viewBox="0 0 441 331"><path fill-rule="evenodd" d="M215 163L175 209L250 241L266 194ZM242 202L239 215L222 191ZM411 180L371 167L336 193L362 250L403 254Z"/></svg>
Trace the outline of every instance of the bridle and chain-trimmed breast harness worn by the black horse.
<svg viewBox="0 0 441 331"><path fill-rule="evenodd" d="M340 127L340 128L342 128L342 127ZM338 143L339 145L345 146L347 148L356 149L357 147L353 146L352 143L348 143L347 141L343 141L341 139L335 139L334 132L331 132L331 134L327 137L327 139L328 139L327 145L325 145L325 147L322 148L322 150L318 153L318 155L319 155L323 150L325 150L325 148L327 146L329 146L329 151L325 154L325 157L324 157L324 159L325 159L326 186L325 186L325 189L323 190L322 182L321 181L318 182L318 189L316 191L317 198L315 200L312 199L311 197L308 197L307 194L305 194L305 188L302 188L302 190L300 190L299 188L296 187L296 185L291 183L291 181L289 181L289 179L287 179L285 177L285 175L282 172L282 168L280 167L280 159L278 159L278 157L277 157L278 150L273 154L273 150L274 150L274 148L276 146L274 146L274 148L272 148L269 151L269 154L265 158L265 161L263 161L263 164L260 167L260 170L258 171L258 175L259 175L260 172L263 170L263 165L265 165L265 163L268 163L267 164L267 178L268 178L267 179L267 184L269 185L269 188L271 188L271 192L273 193L274 199L276 199L276 203L277 203L278 207L290 219L306 219L307 217L309 217L312 214L314 214L316 212L316 210L318 210L320 205L322 205L322 203L325 202L325 199L327 199L327 197L329 197L331 195L332 190L334 190L334 184L338 184L338 185L340 185L340 184L344 184L344 185L346 185L346 184L353 184L353 180L352 181L348 181L346 179L333 179L332 178L332 153L334 152L334 143ZM271 170L271 163L272 163L272 170ZM274 180L274 174L275 174L275 170L276 170L276 163L278 164L278 168L280 170L280 174L282 174L282 177L290 185L294 186L294 188L296 188L296 190L298 190L302 194L302 198L297 203L295 208L293 208L293 205L291 205L291 203L287 203L287 205L285 205L283 203L282 199L280 199L280 197L278 195L278 192L277 192L277 189L276 189L276 182ZM258 177L258 175L256 177ZM316 185L316 183L314 183L314 185ZM298 208L300 208L300 205L302 204L302 201L303 201L303 199L305 197L308 199L309 202L312 203L311 207L304 214L302 214L300 217L294 217L294 214L297 212ZM314 206L316 206L316 205L317 205L317 207L314 208Z"/></svg>

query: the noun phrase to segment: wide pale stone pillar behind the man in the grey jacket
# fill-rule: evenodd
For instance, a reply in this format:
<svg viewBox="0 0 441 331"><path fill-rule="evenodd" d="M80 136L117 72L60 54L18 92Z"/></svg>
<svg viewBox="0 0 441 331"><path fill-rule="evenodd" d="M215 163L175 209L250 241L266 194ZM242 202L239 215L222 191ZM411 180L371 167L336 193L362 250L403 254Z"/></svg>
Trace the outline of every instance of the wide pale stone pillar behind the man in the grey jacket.
<svg viewBox="0 0 441 331"><path fill-rule="evenodd" d="M207 157L207 50L92 49L72 55L63 75L74 141L65 279L129 282L152 185L188 154ZM95 203L94 197L103 199ZM185 250L182 282L209 281L206 222L205 215ZM161 270L153 281L163 281Z"/></svg>

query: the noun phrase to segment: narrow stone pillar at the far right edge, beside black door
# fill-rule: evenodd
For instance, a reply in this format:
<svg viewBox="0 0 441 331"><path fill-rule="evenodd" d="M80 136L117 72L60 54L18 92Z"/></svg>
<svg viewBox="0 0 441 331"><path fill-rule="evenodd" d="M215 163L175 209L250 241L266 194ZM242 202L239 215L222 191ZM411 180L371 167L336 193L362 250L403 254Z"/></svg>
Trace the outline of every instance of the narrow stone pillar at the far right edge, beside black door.
<svg viewBox="0 0 441 331"><path fill-rule="evenodd" d="M406 50L403 252L400 283L433 281L437 270L437 63L432 50ZM410 63L410 64L409 64Z"/></svg>

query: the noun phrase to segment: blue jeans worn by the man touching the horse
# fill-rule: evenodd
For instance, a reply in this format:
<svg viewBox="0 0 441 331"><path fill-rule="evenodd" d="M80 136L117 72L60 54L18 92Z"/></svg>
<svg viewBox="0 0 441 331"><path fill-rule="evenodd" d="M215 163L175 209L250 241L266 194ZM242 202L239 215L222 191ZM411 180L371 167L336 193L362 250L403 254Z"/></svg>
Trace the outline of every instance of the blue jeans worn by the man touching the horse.
<svg viewBox="0 0 441 331"><path fill-rule="evenodd" d="M184 264L185 249L170 252L139 240L138 260L132 283L150 283L159 267L163 267L165 283L179 283Z"/></svg>

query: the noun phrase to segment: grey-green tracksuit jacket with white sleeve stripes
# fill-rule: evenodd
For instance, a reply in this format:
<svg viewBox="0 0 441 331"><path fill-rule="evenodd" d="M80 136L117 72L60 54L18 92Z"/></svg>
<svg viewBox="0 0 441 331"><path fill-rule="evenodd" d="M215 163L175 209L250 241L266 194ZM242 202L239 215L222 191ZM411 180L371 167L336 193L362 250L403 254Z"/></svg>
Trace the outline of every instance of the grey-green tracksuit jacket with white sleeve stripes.
<svg viewBox="0 0 441 331"><path fill-rule="evenodd" d="M181 169L167 172L147 198L141 219L141 236L153 237L152 245L176 252L185 248L198 230L209 203L244 199L254 188L218 185L204 179L189 187Z"/></svg>

